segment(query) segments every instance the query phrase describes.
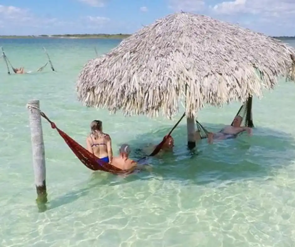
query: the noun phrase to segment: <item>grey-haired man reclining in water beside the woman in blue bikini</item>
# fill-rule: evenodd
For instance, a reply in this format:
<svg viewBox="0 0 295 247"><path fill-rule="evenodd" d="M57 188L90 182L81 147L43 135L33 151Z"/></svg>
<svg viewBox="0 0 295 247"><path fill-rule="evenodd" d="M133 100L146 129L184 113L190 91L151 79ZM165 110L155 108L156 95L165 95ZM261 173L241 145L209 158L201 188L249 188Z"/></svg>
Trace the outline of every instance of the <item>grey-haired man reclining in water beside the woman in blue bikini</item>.
<svg viewBox="0 0 295 247"><path fill-rule="evenodd" d="M120 168L121 170L132 169L149 169L151 166L138 164L136 161L129 158L131 149L128 144L122 144L119 149L119 156L113 157L112 165Z"/></svg>

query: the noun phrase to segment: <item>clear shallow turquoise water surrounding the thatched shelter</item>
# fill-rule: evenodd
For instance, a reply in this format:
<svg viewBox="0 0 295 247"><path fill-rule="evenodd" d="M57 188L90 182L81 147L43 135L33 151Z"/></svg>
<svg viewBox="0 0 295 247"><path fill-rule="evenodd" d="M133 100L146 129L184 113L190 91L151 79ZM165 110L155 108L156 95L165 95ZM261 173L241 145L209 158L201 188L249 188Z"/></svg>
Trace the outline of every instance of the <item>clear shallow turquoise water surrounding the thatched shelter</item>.
<svg viewBox="0 0 295 247"><path fill-rule="evenodd" d="M183 120L174 132L174 154L151 160L153 171L126 178L84 167L43 121L47 211L39 213L32 167L30 99L82 145L89 123L101 119L113 150L157 144L177 121L109 115L76 99L83 64L118 40L0 39L14 67L36 70L46 62L57 73L8 76L0 59L1 246L271 246L295 245L295 85L282 81L254 99L256 129L187 151ZM293 42L295 46L295 43ZM217 130L239 108L206 107L199 120ZM181 116L179 114L178 117Z"/></svg>

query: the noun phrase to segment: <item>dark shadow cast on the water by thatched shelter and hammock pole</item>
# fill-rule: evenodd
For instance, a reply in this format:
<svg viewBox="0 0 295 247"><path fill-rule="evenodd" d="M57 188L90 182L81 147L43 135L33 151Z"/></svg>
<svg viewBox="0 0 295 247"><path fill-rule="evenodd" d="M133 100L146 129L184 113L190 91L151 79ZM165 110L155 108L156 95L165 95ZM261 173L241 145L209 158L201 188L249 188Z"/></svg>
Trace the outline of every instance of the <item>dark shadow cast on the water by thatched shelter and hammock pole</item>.
<svg viewBox="0 0 295 247"><path fill-rule="evenodd" d="M216 132L223 125L204 124ZM149 143L158 144L170 128L140 134L136 139L126 140L131 149L143 148ZM253 136L242 134L237 139L207 144L202 140L194 150L186 146L186 126L173 132L174 151L159 158L149 158L151 172L143 171L129 176L115 176L93 172L84 188L68 192L50 201L48 210L64 206L86 196L92 189L102 186L123 185L136 180L175 180L204 185L212 182L234 182L241 179L264 177L269 179L277 169L286 167L295 160L295 140L290 134L269 128L258 127ZM115 149L116 147L113 147ZM144 154L131 153L138 160Z"/></svg>

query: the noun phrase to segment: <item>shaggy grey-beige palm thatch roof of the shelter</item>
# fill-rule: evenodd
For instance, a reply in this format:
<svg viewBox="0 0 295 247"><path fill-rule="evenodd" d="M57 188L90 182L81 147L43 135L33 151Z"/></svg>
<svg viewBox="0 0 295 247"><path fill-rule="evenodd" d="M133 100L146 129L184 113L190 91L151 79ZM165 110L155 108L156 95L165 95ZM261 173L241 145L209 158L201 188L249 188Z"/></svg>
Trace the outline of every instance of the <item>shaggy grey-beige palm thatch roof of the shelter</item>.
<svg viewBox="0 0 295 247"><path fill-rule="evenodd" d="M294 80L294 55L294 48L264 34L203 15L175 13L89 60L77 81L78 99L113 113L154 117L162 112L168 118L184 99L186 113L194 116L204 104L261 96L278 76Z"/></svg>

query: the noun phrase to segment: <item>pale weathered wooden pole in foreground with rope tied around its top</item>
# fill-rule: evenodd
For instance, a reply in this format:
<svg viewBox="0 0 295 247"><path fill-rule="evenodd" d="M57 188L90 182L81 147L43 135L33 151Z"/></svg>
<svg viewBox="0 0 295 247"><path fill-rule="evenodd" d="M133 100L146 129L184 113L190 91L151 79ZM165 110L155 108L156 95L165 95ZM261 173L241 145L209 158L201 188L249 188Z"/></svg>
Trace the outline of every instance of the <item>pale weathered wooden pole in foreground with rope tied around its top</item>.
<svg viewBox="0 0 295 247"><path fill-rule="evenodd" d="M29 122L31 130L31 143L33 152L33 168L35 176L35 186L37 191L37 202L47 202L46 192L46 166L45 166L45 148L43 141L43 131L40 115L39 100L28 102Z"/></svg>

